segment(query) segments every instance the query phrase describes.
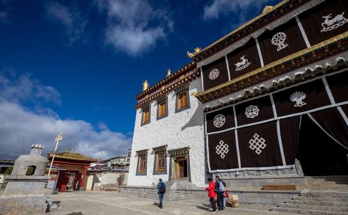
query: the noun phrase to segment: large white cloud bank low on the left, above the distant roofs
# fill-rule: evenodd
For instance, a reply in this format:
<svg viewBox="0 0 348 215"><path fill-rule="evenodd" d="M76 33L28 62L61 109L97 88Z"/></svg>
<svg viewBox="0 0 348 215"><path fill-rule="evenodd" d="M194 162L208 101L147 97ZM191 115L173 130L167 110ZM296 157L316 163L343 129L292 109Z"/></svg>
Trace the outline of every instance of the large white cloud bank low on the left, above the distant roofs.
<svg viewBox="0 0 348 215"><path fill-rule="evenodd" d="M62 120L51 109L32 111L22 103L31 101L60 101L52 86L45 86L28 75L15 76L0 72L0 158L16 159L28 154L33 143L45 145L45 152L54 150L54 138L63 133L58 148L68 148L90 157L106 159L127 154L132 137L111 131L100 124L98 129L84 120ZM24 93L24 95L22 95ZM59 95L59 96L58 96Z"/></svg>

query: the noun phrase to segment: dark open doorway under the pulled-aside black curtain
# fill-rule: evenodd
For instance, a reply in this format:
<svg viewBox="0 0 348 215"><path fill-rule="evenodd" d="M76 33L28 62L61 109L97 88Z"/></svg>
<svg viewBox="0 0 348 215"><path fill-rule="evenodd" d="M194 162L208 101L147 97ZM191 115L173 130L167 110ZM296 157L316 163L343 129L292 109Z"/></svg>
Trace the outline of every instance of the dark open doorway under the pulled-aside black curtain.
<svg viewBox="0 0 348 215"><path fill-rule="evenodd" d="M348 150L333 141L307 115L301 119L299 159L304 175L348 175Z"/></svg>

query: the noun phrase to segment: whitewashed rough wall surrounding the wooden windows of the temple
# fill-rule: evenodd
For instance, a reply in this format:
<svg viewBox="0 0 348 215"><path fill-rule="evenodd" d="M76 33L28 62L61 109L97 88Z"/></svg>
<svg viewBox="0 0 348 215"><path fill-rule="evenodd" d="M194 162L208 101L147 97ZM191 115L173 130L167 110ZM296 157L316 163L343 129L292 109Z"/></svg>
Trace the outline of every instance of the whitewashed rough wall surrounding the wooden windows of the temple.
<svg viewBox="0 0 348 215"><path fill-rule="evenodd" d="M189 166L191 182L195 186L205 186L205 142L204 116L202 104L193 92L200 92L201 79L194 79L189 84L190 108L175 113L176 93L168 93L168 116L157 120L157 102L151 103L150 123L141 126L142 109L136 110L132 155L129 166L128 186L154 186L159 178L168 181L170 154L166 157L165 175L153 175L155 152L152 148L168 145L167 151L189 147ZM136 175L138 155L136 151L148 149L148 164L146 175Z"/></svg>

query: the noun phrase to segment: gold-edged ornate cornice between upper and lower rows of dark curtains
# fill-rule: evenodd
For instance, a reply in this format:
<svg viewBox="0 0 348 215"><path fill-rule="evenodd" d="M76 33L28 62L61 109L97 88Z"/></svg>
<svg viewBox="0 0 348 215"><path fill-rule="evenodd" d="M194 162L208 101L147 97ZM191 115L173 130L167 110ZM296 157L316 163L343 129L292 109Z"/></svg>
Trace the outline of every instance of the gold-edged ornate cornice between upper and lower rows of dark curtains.
<svg viewBox="0 0 348 215"><path fill-rule="evenodd" d="M253 72L248 72L247 74L232 79L226 83L222 83L219 86L210 88L203 92L197 93L196 97L200 99L201 102L209 102L213 99L222 97L223 95L228 95L234 93L237 90L242 90L247 86L251 86L255 83L260 83L265 79L269 79L279 74L289 72L297 67L303 67L321 58L326 58L327 56L332 56L335 53L340 53L345 51L347 48L347 38L348 32L337 35L329 40L320 42L317 45L308 47L294 54L281 58L278 61L269 63L264 67L260 67Z"/></svg>

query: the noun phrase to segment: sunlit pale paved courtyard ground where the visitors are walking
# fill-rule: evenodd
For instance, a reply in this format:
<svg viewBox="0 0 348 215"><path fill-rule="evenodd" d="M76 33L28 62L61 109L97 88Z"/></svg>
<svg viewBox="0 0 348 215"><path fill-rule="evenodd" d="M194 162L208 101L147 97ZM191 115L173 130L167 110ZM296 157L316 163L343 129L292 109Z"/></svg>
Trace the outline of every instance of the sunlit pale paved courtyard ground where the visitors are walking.
<svg viewBox="0 0 348 215"><path fill-rule="evenodd" d="M166 201L164 209L159 209L158 200L127 196L118 192L83 191L59 193L51 196L54 202L60 202L61 209L53 209L48 215L96 215L96 214L211 214L208 198L203 200ZM217 214L280 214L269 212L269 205L240 205L237 209L228 207Z"/></svg>

